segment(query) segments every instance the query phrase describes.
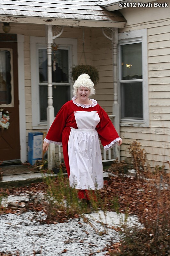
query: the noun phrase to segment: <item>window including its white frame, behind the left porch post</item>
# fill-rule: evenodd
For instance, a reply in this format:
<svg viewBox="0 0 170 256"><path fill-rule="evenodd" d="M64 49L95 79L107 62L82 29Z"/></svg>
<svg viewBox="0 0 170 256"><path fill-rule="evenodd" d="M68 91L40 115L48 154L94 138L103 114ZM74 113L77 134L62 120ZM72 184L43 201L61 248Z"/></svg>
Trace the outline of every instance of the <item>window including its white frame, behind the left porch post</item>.
<svg viewBox="0 0 170 256"><path fill-rule="evenodd" d="M47 125L47 47L45 38L31 37L31 84L32 84L32 126L33 129ZM41 42L41 43L40 43ZM70 69L76 64L76 39L57 38L57 49L52 51L52 92L55 115L71 99ZM73 51L74 54L73 54Z"/></svg>

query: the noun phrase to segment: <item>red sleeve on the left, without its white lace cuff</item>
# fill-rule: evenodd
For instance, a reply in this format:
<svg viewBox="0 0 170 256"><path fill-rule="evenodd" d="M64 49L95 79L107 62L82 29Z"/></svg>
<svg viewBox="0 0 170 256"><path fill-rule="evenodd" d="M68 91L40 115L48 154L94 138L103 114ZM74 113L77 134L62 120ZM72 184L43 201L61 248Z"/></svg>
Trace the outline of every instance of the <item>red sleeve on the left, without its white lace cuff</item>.
<svg viewBox="0 0 170 256"><path fill-rule="evenodd" d="M54 122L51 124L46 139L50 141L62 142L62 132L66 126L68 118L67 104L64 104L58 111Z"/></svg>

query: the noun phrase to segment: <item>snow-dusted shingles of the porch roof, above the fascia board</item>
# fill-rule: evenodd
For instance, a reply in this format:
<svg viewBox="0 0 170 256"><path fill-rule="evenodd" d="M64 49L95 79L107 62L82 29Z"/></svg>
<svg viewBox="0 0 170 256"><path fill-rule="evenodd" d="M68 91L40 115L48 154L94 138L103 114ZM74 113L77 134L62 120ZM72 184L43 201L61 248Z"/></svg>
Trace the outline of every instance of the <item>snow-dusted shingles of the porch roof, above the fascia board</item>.
<svg viewBox="0 0 170 256"><path fill-rule="evenodd" d="M121 13L109 12L98 3L98 0L1 0L0 16L27 17L27 20L37 17L51 20L62 18L96 22L126 22Z"/></svg>

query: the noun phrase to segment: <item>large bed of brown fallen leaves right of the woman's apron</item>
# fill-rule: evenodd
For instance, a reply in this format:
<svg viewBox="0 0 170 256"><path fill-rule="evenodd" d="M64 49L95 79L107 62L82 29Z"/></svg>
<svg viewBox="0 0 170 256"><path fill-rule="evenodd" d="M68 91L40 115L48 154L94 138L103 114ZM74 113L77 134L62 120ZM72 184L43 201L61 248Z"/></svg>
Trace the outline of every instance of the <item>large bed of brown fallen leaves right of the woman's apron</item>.
<svg viewBox="0 0 170 256"><path fill-rule="evenodd" d="M101 198L107 198L108 209L112 209L112 199L117 196L119 212L127 211L128 214L156 219L158 204L161 206L161 203L167 202L169 198L168 189L161 189L160 195L158 189L159 181L145 178L139 181L135 177L111 176L100 193ZM159 214L162 210L165 211L165 207L168 208L166 203L162 209L159 207Z"/></svg>

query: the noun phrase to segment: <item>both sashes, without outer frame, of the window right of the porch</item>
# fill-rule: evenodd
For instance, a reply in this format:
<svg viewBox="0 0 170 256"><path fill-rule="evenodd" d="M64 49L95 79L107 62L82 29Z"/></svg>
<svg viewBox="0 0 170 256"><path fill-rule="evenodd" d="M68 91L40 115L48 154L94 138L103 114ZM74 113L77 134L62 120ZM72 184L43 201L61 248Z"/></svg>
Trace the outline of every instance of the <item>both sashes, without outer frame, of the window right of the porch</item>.
<svg viewBox="0 0 170 256"><path fill-rule="evenodd" d="M121 45L120 91L121 118L142 119L142 43Z"/></svg>

